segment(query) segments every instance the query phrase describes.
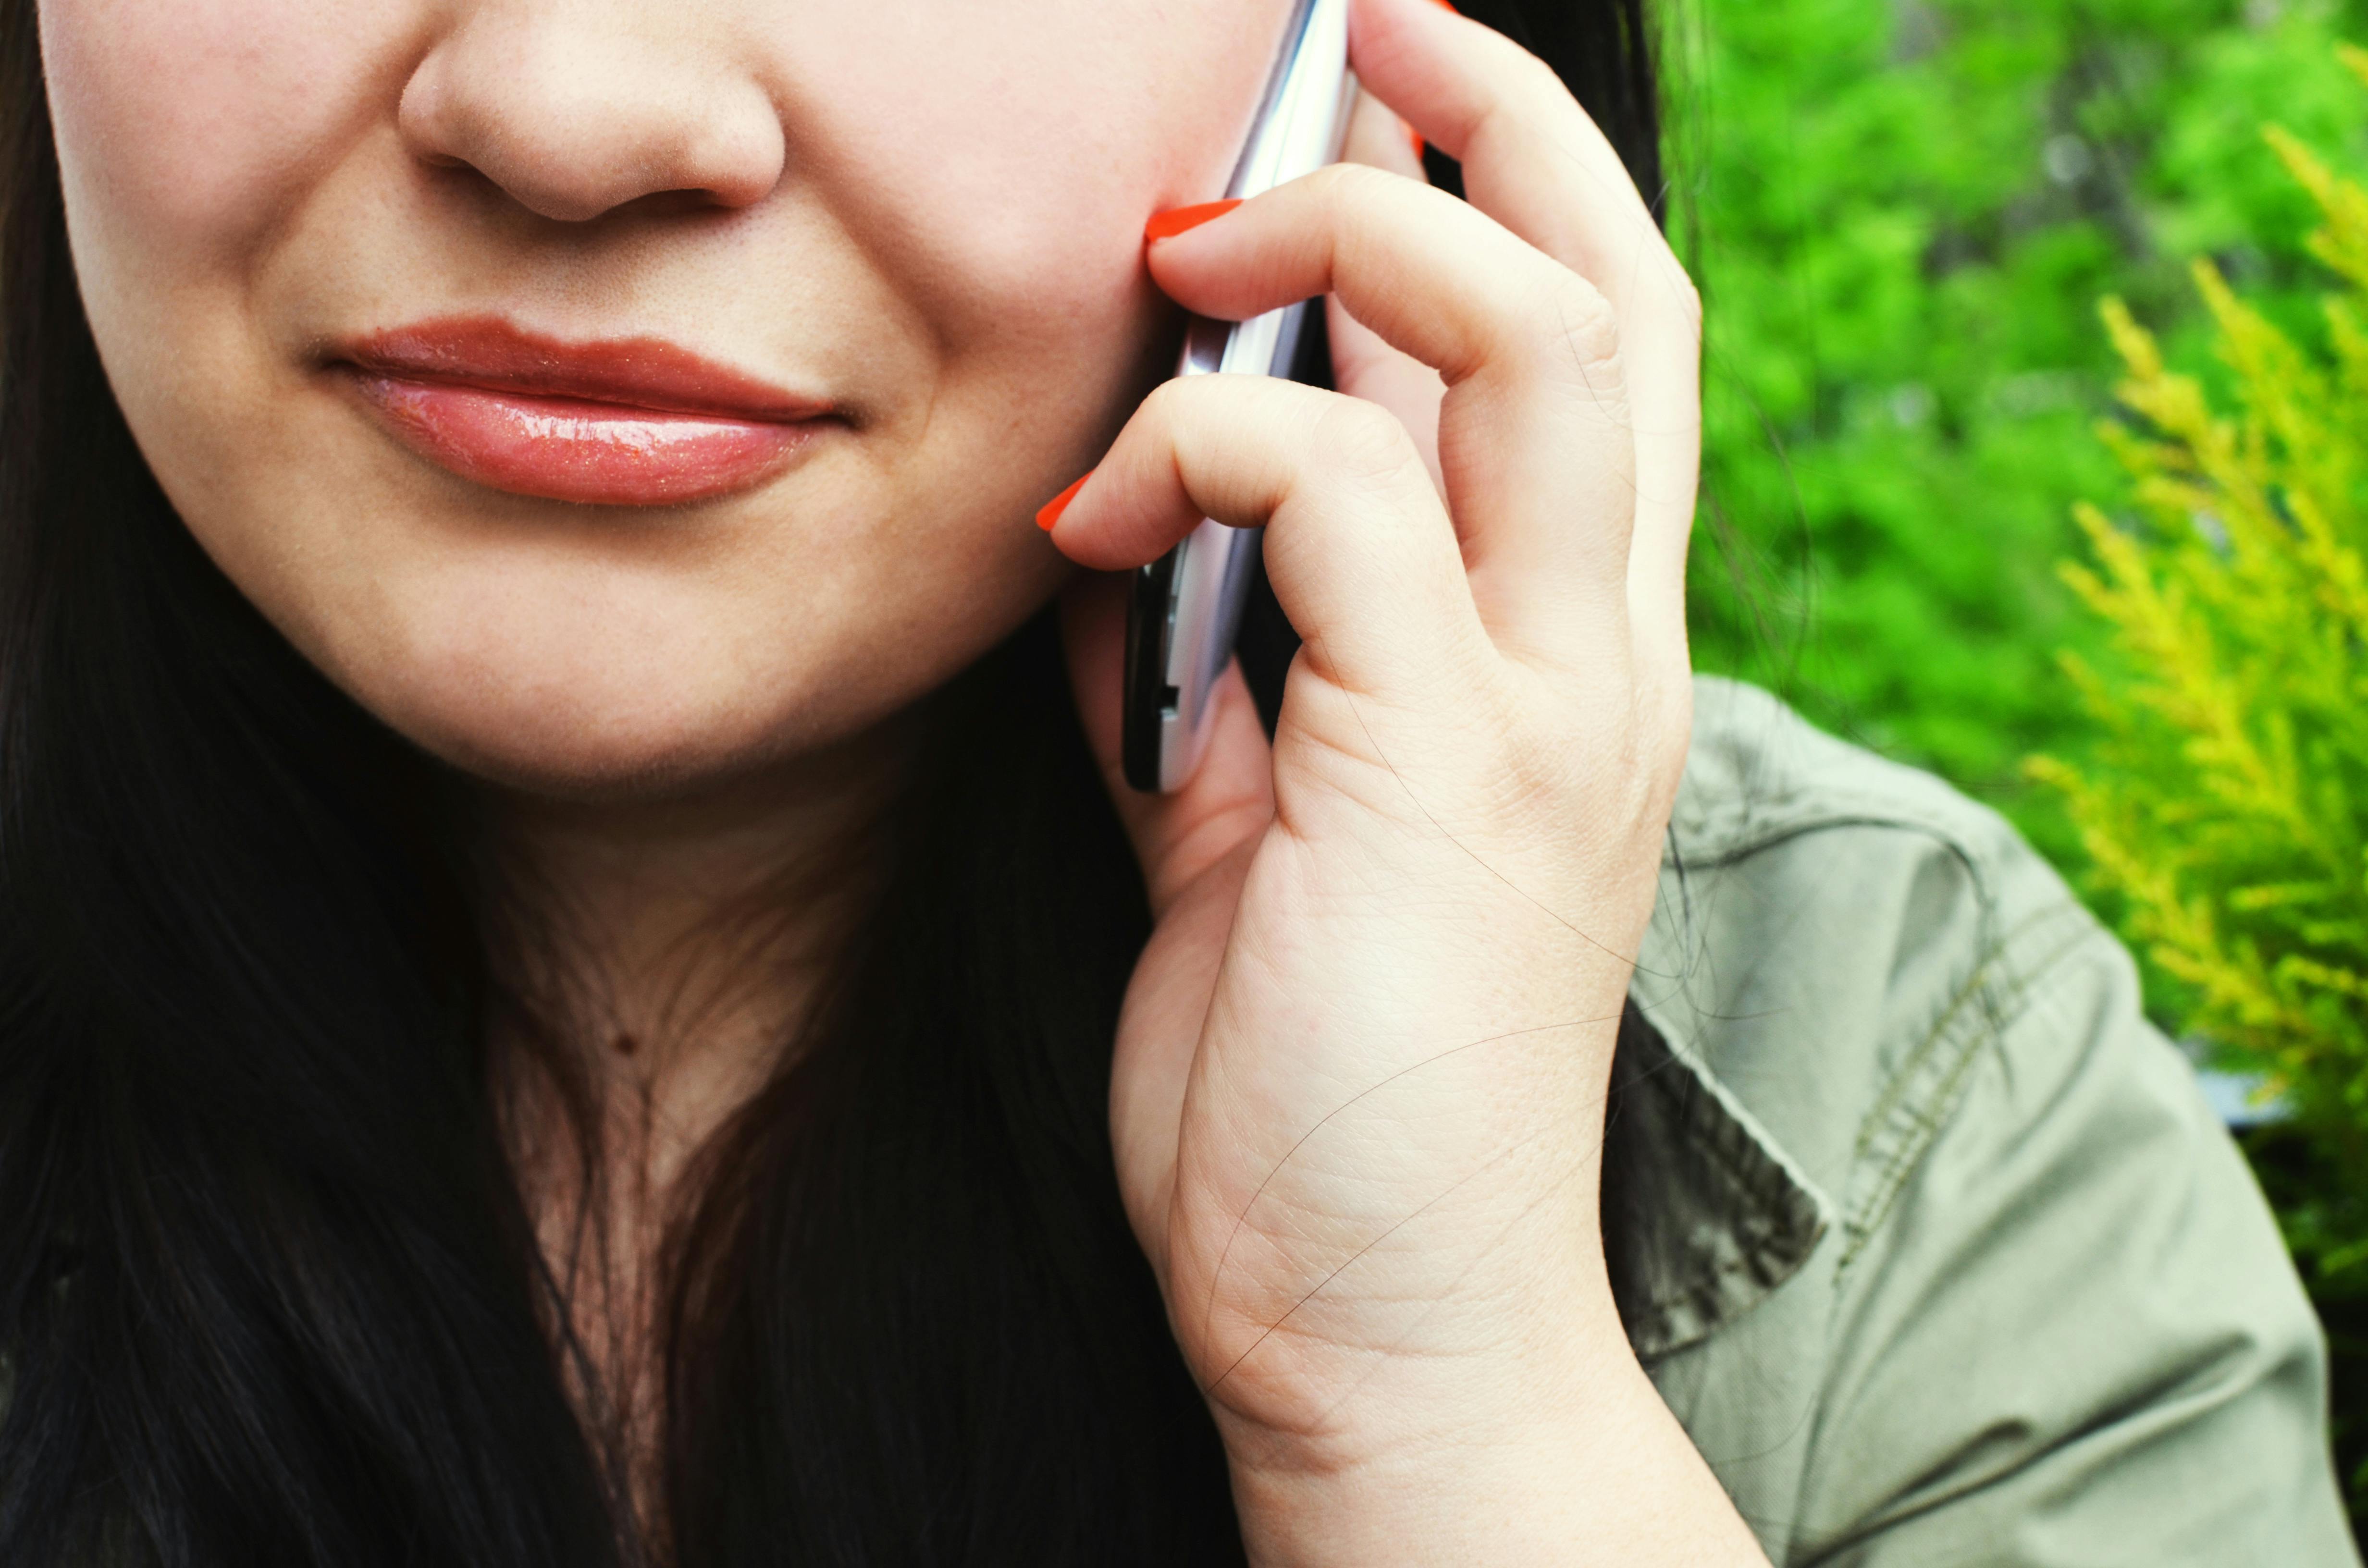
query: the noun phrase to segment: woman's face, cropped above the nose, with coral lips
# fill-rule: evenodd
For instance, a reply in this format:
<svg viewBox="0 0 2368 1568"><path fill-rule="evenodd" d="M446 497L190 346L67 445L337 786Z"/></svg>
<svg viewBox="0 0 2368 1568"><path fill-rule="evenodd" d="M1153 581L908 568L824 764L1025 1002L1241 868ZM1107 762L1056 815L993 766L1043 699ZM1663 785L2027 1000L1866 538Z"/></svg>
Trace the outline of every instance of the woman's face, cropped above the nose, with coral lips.
<svg viewBox="0 0 2368 1568"><path fill-rule="evenodd" d="M528 789L848 737L1061 576L1286 0L43 0L83 301L206 552Z"/></svg>

